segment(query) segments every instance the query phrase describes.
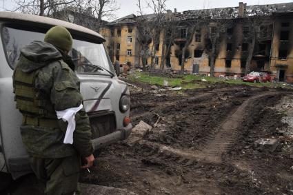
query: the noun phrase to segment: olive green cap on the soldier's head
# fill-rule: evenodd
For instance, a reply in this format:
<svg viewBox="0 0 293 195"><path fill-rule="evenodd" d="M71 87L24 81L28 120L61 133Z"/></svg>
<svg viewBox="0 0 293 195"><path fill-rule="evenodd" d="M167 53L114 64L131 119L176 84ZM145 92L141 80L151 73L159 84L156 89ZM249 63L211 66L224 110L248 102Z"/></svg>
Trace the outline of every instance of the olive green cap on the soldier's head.
<svg viewBox="0 0 293 195"><path fill-rule="evenodd" d="M57 25L50 28L45 35L44 41L46 43L51 43L55 47L63 50L72 50L72 37L70 32L63 26Z"/></svg>

